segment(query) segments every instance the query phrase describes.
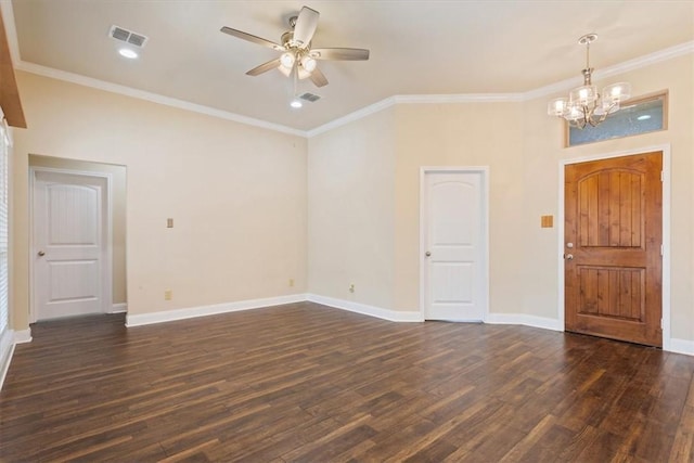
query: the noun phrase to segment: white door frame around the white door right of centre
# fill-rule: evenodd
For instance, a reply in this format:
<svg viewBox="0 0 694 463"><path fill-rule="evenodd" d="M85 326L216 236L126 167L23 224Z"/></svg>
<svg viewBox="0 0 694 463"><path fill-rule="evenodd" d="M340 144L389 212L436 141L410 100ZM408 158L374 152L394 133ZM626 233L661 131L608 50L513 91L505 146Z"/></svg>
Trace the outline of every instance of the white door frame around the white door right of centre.
<svg viewBox="0 0 694 463"><path fill-rule="evenodd" d="M423 166L420 167L420 316L426 320L426 271L425 263L427 244L426 237L426 175L427 173L479 173L481 176L481 296L483 296L483 322L489 318L489 166Z"/></svg>

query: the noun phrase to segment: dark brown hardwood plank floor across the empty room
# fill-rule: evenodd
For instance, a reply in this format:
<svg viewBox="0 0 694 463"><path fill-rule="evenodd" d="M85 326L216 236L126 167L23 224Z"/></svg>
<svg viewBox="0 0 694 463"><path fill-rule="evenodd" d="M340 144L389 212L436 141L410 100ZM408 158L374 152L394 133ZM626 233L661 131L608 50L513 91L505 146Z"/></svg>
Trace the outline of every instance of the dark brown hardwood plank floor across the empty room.
<svg viewBox="0 0 694 463"><path fill-rule="evenodd" d="M38 323L0 459L690 462L694 358L316 304L126 329Z"/></svg>

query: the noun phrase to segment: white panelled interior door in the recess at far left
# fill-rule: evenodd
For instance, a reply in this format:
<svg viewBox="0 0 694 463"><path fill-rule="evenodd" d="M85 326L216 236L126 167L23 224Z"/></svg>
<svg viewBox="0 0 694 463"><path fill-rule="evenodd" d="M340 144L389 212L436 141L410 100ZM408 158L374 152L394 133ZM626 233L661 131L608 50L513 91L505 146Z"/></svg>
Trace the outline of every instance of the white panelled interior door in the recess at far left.
<svg viewBox="0 0 694 463"><path fill-rule="evenodd" d="M34 179L35 320L106 311L107 182L36 170Z"/></svg>

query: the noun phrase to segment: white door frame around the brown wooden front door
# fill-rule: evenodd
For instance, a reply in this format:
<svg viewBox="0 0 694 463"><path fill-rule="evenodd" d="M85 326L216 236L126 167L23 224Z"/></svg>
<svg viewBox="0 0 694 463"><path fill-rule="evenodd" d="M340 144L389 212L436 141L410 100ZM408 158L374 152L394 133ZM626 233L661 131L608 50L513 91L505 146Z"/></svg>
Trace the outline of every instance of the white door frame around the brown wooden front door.
<svg viewBox="0 0 694 463"><path fill-rule="evenodd" d="M625 150L612 153L594 154L581 157L574 157L570 159L560 160L560 175L558 175L558 190L560 190L560 204L558 204L558 219L557 219L557 270L558 270L558 324L561 331L566 329L566 299L564 294L565 281L564 281L564 169L567 165L587 163L590 160L609 159L613 157L622 156L635 156L639 154L661 152L663 153L663 350L671 349L670 338L670 144L659 144L652 146L638 147L632 150Z"/></svg>

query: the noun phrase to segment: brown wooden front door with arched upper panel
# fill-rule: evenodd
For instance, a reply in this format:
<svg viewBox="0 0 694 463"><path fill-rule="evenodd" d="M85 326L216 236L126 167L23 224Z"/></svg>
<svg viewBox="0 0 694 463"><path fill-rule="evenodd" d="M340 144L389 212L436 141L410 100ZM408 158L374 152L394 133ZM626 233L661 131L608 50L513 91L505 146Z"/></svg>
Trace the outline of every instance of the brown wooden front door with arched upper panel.
<svg viewBox="0 0 694 463"><path fill-rule="evenodd" d="M566 331L663 345L663 153L565 167Z"/></svg>

